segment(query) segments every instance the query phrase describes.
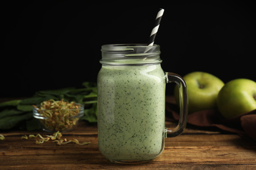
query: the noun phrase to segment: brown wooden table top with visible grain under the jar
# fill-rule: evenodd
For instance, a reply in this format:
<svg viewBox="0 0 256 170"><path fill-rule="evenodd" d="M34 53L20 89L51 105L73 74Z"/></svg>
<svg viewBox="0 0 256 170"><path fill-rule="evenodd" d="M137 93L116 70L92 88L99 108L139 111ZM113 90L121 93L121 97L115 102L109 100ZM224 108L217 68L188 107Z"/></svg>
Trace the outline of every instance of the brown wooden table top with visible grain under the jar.
<svg viewBox="0 0 256 170"><path fill-rule="evenodd" d="M173 123L167 122L167 126ZM80 122L66 139L90 144L35 144L22 135L43 131L0 131L0 169L256 169L256 143L238 135L187 127L182 135L165 139L165 150L156 160L140 165L107 161L98 150L96 125Z"/></svg>

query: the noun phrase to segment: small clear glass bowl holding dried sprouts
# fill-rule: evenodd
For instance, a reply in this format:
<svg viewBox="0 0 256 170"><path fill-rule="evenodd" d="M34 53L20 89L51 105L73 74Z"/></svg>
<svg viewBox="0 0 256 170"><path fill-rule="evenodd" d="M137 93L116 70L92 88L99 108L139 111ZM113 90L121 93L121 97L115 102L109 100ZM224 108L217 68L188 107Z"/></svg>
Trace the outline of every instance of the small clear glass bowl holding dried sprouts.
<svg viewBox="0 0 256 170"><path fill-rule="evenodd" d="M80 107L77 109L58 109L53 112L51 109L38 109L33 107L33 117L41 122L43 131L47 132L67 132L72 131L78 124L79 118L83 116L84 107L79 103L75 103Z"/></svg>

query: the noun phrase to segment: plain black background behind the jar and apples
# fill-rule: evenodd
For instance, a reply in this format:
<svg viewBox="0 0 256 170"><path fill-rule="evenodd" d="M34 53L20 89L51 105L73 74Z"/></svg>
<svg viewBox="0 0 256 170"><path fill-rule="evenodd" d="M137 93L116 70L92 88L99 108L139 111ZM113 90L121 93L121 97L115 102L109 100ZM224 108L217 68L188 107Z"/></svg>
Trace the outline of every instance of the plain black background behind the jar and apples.
<svg viewBox="0 0 256 170"><path fill-rule="evenodd" d="M100 46L147 43L160 8L165 12L155 44L165 71L205 71L224 82L256 80L253 1L153 2L1 3L0 97L96 82Z"/></svg>

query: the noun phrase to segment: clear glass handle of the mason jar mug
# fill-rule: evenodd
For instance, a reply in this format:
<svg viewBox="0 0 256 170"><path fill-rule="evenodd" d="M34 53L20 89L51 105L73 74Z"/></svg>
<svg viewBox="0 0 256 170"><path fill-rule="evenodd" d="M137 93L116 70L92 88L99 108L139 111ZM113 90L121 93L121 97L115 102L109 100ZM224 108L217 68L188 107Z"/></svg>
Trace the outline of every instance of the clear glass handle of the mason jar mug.
<svg viewBox="0 0 256 170"><path fill-rule="evenodd" d="M186 91L186 82L183 80L181 76L175 73L165 73L165 80L166 83L175 82L179 87L179 123L175 127L175 129L166 128L166 133L168 134L168 137L176 137L184 131L184 129L186 128L186 121L188 120L188 93Z"/></svg>

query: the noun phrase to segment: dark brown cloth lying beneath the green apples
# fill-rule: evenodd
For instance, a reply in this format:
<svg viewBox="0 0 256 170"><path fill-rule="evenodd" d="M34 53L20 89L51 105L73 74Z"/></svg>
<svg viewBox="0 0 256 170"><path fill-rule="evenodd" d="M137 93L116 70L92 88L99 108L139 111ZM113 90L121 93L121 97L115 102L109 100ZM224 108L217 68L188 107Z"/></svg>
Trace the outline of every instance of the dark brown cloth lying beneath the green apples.
<svg viewBox="0 0 256 170"><path fill-rule="evenodd" d="M179 120L179 108L173 102L172 97L166 97L167 115ZM171 120L167 116L167 120ZM188 114L188 124L198 127L218 127L224 131L237 133L241 136L249 136L256 141L256 109L245 114L224 118L219 110L202 110Z"/></svg>

